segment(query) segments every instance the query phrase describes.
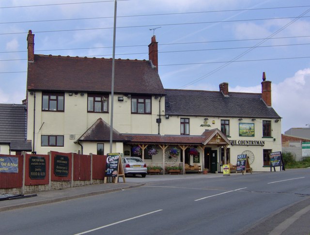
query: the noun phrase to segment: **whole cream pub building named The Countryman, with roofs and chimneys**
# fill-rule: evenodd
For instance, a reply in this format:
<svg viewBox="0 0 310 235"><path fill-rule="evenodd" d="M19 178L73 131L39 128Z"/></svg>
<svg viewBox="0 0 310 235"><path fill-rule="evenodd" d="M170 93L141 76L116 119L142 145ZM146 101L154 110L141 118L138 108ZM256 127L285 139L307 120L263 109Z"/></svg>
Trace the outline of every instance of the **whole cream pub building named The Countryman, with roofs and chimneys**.
<svg viewBox="0 0 310 235"><path fill-rule="evenodd" d="M34 54L31 30L27 43L31 152L109 153L112 60ZM261 93L229 92L227 82L219 91L165 89L155 36L148 47L149 60L115 60L112 152L181 173L222 172L247 154L253 171L269 171L269 154L281 151L281 118L265 73Z"/></svg>

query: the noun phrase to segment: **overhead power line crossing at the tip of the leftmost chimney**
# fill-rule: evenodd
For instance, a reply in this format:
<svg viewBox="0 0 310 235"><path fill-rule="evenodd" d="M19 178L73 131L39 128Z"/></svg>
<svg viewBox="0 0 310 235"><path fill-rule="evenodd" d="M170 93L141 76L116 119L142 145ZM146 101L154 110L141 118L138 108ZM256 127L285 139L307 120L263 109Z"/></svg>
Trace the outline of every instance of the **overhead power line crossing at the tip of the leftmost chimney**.
<svg viewBox="0 0 310 235"><path fill-rule="evenodd" d="M277 17L277 18L261 18L261 19L239 19L239 20L219 20L219 21L206 21L206 22L191 22L191 23L173 23L173 24L156 24L156 25L134 25L134 26L119 26L117 29L126 29L126 28L142 28L142 27L157 27L157 26L175 26L175 25L194 25L194 24L213 24L213 23L232 23L232 22L243 22L243 21L259 21L259 20L275 20L275 19L296 19L296 18L309 18L310 16L301 16L301 17ZM113 27L105 28L88 28L88 29L69 29L69 30L48 30L48 31L35 31L35 33L43 32L65 32L65 31L86 31L86 30L109 30ZM24 34L28 32L7 32L0 33L0 35L8 34Z"/></svg>

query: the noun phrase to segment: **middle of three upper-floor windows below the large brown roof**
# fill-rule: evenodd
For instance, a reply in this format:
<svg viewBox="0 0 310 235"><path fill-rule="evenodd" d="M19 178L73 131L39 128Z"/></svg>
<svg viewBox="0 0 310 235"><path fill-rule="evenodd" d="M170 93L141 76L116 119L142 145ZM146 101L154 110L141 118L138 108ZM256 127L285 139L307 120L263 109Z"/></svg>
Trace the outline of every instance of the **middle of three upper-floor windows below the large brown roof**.
<svg viewBox="0 0 310 235"><path fill-rule="evenodd" d="M108 112L108 95L88 94L87 112Z"/></svg>

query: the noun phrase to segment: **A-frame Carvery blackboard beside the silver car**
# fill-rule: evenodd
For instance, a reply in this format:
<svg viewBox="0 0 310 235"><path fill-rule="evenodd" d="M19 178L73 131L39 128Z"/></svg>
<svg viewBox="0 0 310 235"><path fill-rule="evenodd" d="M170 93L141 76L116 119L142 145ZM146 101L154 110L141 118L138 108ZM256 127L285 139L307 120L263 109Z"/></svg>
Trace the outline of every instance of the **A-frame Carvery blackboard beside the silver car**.
<svg viewBox="0 0 310 235"><path fill-rule="evenodd" d="M108 177L112 177L114 183L118 182L118 177L123 177L123 182L126 182L123 165L121 163L120 153L107 154L106 171L104 183L107 183Z"/></svg>

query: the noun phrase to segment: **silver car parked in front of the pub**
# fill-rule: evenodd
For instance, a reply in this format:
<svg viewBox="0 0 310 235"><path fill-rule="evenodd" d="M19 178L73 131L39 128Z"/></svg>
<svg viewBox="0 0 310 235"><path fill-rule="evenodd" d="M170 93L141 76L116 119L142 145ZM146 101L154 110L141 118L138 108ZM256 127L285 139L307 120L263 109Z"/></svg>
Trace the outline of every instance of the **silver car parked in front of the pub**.
<svg viewBox="0 0 310 235"><path fill-rule="evenodd" d="M140 157L123 157L122 164L124 168L124 174L140 174L142 177L146 176L147 168L146 164Z"/></svg>

